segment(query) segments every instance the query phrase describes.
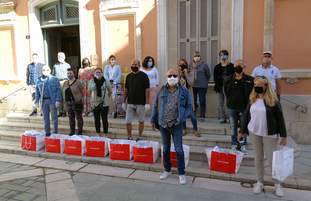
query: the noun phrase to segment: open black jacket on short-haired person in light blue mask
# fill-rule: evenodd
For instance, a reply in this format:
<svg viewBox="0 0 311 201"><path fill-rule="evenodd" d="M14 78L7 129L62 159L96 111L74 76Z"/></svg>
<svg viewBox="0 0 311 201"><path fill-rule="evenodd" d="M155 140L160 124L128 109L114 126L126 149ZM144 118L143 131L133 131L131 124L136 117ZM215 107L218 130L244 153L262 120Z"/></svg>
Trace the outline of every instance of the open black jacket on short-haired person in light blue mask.
<svg viewBox="0 0 311 201"><path fill-rule="evenodd" d="M228 63L227 67L225 68L226 76L231 75L234 73L234 64ZM223 84L224 84L224 77L222 77L223 71L221 70L221 63L218 63L214 68L214 91L220 93L223 90Z"/></svg>

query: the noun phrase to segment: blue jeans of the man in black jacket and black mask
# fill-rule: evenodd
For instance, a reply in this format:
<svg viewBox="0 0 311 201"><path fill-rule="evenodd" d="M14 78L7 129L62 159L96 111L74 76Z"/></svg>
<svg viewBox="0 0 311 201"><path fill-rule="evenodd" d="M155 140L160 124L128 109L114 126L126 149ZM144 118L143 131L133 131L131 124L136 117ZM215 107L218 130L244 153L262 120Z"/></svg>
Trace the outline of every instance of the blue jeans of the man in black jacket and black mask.
<svg viewBox="0 0 311 201"><path fill-rule="evenodd" d="M242 123L245 110L229 110L229 119L231 125L231 140L233 145L238 145L238 120ZM241 146L246 145L247 135L244 134L244 143Z"/></svg>

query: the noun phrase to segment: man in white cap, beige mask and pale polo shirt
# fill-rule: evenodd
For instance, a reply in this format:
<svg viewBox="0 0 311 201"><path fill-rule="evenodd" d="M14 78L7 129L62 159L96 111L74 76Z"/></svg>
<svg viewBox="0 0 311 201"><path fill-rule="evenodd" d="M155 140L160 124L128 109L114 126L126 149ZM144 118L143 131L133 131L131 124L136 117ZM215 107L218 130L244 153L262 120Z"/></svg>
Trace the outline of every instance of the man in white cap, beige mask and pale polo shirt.
<svg viewBox="0 0 311 201"><path fill-rule="evenodd" d="M278 68L271 64L272 53L267 51L262 54L262 64L253 70L252 77L265 76L268 77L276 95L280 99L282 85L281 73Z"/></svg>

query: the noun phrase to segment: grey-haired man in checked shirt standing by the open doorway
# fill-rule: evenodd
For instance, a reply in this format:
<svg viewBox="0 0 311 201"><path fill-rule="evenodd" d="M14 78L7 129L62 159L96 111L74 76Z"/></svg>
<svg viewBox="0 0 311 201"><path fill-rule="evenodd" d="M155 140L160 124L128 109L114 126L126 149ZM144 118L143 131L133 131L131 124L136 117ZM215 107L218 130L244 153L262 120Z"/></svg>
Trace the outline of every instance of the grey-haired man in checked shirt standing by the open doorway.
<svg viewBox="0 0 311 201"><path fill-rule="evenodd" d="M69 63L65 62L65 54L63 52L59 52L57 55L58 63L54 64L53 71L51 75L58 78L60 87L62 90L62 101L58 107L58 117L66 117L67 109L65 104L65 94L64 94L64 82L68 80L67 78L67 69L71 68Z"/></svg>

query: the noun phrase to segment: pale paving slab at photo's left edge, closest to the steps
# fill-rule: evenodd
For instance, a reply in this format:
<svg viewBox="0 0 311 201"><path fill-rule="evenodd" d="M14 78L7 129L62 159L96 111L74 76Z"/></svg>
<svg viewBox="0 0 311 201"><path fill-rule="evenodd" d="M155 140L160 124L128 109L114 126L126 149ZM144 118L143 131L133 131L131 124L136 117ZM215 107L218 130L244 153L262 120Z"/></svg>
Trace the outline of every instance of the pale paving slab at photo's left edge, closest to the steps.
<svg viewBox="0 0 311 201"><path fill-rule="evenodd" d="M0 161L18 163L24 165L35 165L40 161L46 160L45 158L31 157L31 156L22 156L17 154L10 154L0 158Z"/></svg>

